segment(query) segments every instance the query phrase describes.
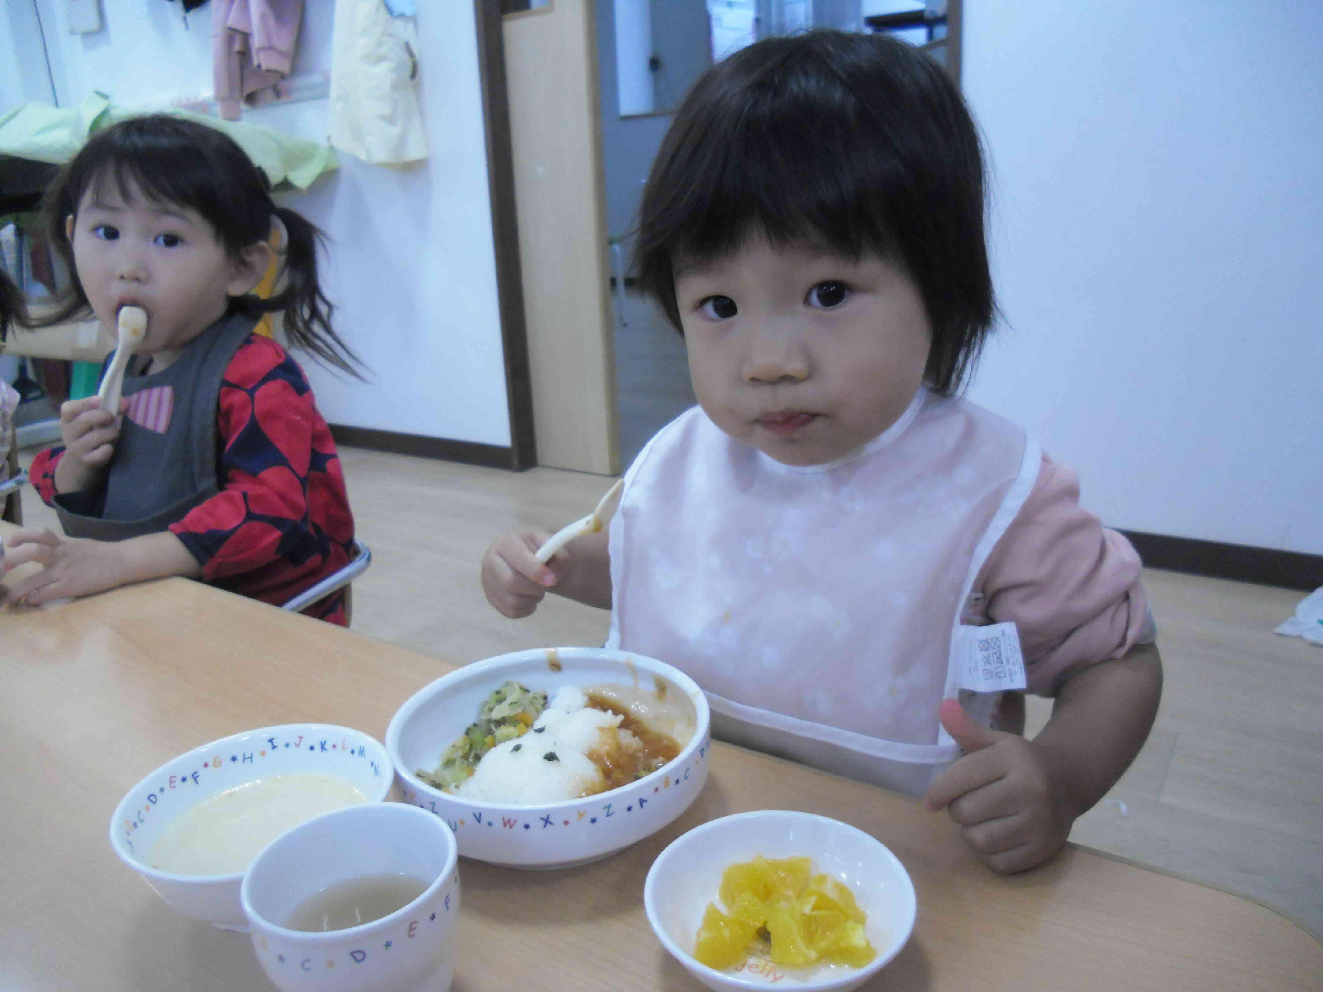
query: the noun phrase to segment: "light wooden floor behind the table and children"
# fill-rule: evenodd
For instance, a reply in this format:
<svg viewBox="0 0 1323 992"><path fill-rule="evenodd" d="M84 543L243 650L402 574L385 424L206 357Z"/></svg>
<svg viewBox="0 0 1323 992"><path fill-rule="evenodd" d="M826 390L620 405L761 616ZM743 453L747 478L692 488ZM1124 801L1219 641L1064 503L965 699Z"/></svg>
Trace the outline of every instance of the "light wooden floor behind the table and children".
<svg viewBox="0 0 1323 992"><path fill-rule="evenodd" d="M499 530L556 529L610 480L341 455L374 556L355 583L356 631L459 661L606 639L605 612L556 597L525 620L501 618L478 566ZM54 522L30 489L24 511ZM1167 677L1158 722L1072 840L1249 895L1323 935L1323 649L1273 634L1303 594L1156 570L1144 582ZM1048 708L1031 700L1031 733Z"/></svg>

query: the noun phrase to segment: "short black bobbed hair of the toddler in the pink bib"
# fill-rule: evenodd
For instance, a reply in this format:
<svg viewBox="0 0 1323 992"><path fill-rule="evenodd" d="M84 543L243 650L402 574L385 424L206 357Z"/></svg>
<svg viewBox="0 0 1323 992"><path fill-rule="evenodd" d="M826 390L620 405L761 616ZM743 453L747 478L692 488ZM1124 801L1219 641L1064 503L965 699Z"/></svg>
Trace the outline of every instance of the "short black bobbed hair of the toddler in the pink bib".
<svg viewBox="0 0 1323 992"><path fill-rule="evenodd" d="M937 62L880 34L767 38L695 83L648 176L634 275L680 328L677 258L750 233L876 251L922 294L925 382L957 392L995 313L974 120Z"/></svg>

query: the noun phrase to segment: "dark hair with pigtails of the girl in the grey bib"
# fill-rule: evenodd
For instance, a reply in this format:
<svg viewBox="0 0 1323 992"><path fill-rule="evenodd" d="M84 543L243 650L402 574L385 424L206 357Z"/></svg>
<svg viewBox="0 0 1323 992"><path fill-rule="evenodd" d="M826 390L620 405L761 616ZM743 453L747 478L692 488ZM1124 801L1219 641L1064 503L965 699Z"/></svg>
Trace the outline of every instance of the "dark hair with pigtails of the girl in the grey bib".
<svg viewBox="0 0 1323 992"><path fill-rule="evenodd" d="M288 234L284 246L284 288L259 300L246 296L237 306L255 313L283 311L291 344L345 372L359 374L353 352L331 327L333 307L318 282L318 241L321 231L303 214L271 200L271 185L238 143L214 127L169 114L130 118L93 135L46 188L42 213L46 235L70 272L69 292L57 310L34 327L62 323L87 311L87 295L74 267L65 218L78 213L90 189L112 189L122 198L138 190L148 200L197 210L212 225L232 257L271 234L279 217Z"/></svg>

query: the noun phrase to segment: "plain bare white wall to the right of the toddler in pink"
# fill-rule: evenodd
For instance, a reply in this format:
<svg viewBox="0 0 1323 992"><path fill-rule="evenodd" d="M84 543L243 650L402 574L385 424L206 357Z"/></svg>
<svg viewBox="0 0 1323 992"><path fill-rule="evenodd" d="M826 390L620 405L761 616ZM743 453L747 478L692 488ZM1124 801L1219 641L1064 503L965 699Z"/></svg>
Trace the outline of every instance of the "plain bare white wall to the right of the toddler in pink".
<svg viewBox="0 0 1323 992"><path fill-rule="evenodd" d="M1007 325L971 397L1111 525L1323 553L1323 5L964 5Z"/></svg>

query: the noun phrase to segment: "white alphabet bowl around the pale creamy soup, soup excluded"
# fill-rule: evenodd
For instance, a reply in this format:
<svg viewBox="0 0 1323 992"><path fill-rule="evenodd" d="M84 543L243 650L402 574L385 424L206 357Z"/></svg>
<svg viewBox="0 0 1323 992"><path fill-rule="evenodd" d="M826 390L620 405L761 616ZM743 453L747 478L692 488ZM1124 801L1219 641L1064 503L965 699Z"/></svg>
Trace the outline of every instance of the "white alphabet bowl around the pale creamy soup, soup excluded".
<svg viewBox="0 0 1323 992"><path fill-rule="evenodd" d="M110 820L110 844L156 894L185 917L247 932L242 872L196 876L152 866L161 832L204 799L274 775L320 772L351 782L369 803L390 794L390 757L373 737L331 723L286 723L194 747L144 778Z"/></svg>

